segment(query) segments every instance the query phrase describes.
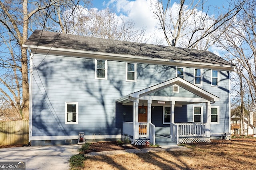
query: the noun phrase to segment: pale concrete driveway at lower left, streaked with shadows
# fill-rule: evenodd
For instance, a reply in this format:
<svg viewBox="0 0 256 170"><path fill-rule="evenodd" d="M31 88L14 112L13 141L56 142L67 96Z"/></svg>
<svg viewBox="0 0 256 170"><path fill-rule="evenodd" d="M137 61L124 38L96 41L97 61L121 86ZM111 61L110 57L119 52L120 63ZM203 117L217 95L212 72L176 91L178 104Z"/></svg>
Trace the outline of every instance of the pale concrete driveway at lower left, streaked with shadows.
<svg viewBox="0 0 256 170"><path fill-rule="evenodd" d="M81 145L14 147L0 149L0 162L26 162L26 170L68 170L69 159Z"/></svg>

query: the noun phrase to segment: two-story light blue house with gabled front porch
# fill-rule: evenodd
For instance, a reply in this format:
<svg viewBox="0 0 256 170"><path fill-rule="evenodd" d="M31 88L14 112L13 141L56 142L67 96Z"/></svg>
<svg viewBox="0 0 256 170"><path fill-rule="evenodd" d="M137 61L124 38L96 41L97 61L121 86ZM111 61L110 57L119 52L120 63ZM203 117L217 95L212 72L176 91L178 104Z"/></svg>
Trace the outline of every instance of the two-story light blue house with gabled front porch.
<svg viewBox="0 0 256 170"><path fill-rule="evenodd" d="M31 145L129 139L177 145L230 137L230 71L209 52L35 30Z"/></svg>

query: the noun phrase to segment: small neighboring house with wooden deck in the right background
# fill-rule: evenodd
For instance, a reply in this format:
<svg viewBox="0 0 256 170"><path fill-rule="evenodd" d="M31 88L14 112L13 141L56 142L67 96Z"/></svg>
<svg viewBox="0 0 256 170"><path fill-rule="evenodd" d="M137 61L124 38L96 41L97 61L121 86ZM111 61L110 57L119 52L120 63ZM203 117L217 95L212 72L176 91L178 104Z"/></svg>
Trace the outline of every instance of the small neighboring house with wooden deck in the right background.
<svg viewBox="0 0 256 170"><path fill-rule="evenodd" d="M231 116L231 134L232 135L240 135L240 126L241 126L241 118L240 116L233 115ZM249 126L248 126L249 125ZM244 118L244 135L253 135L255 127L253 125L253 112L250 112L250 120Z"/></svg>

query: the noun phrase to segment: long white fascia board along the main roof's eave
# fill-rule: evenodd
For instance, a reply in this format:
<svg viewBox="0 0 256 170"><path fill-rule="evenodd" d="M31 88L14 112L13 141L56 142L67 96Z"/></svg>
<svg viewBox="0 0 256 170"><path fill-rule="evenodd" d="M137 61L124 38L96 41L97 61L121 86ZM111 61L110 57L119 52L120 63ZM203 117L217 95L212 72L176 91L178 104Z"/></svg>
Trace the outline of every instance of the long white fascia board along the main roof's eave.
<svg viewBox="0 0 256 170"><path fill-rule="evenodd" d="M141 57L136 55L122 55L122 54L113 54L113 53L102 53L95 51L82 51L82 50L74 50L74 49L62 49L55 47L44 47L44 46L36 46L36 45L22 45L24 48L29 48L32 53L35 50L43 50L45 53L58 52L65 53L70 57L81 57L81 54L86 54L86 57L91 57L95 59L96 57L114 61L133 61L137 63L146 63L146 64L160 64L160 65L168 65L168 66L183 66L183 67L193 67L195 62L190 61L180 61L180 60L169 60L169 59L158 59L158 58L150 58L150 57ZM78 55L74 55L78 54ZM89 55L89 56L88 56ZM212 64L212 63L200 63L196 62L197 65L200 65L201 68L213 68L219 70L228 70L231 71L234 69L232 65L226 64Z"/></svg>

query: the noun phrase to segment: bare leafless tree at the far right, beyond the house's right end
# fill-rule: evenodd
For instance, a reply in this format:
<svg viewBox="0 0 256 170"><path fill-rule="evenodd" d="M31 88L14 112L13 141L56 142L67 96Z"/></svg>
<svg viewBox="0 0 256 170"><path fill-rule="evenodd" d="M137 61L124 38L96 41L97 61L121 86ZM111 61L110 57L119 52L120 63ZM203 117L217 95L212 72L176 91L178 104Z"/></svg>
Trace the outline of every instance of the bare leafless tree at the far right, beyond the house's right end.
<svg viewBox="0 0 256 170"><path fill-rule="evenodd" d="M242 6L240 14L225 23L228 28L223 30L223 35L218 39L218 44L228 53L229 61L236 64L236 74L245 82L242 83L241 92L241 108L245 106L242 95L246 91L248 100L256 107L256 1L246 1ZM247 89L245 90L245 87ZM242 111L242 109L241 109ZM243 119L244 120L244 119ZM244 127L243 127L244 129ZM244 135L244 133L243 133Z"/></svg>

